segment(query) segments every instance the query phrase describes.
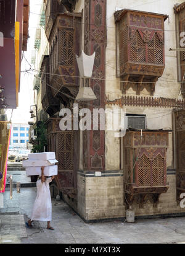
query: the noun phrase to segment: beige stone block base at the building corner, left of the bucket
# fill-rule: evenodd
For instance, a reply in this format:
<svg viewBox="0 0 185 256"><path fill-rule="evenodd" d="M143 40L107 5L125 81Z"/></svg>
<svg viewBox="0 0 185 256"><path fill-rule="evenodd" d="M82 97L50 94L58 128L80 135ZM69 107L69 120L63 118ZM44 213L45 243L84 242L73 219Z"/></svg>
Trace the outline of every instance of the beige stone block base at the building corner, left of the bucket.
<svg viewBox="0 0 185 256"><path fill-rule="evenodd" d="M78 174L78 213L87 221L125 216L123 176L82 177Z"/></svg>

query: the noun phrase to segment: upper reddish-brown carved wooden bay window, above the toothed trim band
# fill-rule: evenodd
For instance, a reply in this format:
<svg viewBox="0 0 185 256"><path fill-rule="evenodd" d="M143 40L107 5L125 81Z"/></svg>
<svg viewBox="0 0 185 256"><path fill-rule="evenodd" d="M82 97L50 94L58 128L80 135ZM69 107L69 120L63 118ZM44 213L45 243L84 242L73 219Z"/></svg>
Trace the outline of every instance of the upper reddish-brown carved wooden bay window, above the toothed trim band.
<svg viewBox="0 0 185 256"><path fill-rule="evenodd" d="M163 30L167 17L126 9L115 12L119 58L117 74L124 81L121 82L123 94L126 94L126 89L130 86L140 94L149 81L154 82L150 86L150 95L154 94L155 82L162 76L165 68ZM136 81L136 84L130 81Z"/></svg>

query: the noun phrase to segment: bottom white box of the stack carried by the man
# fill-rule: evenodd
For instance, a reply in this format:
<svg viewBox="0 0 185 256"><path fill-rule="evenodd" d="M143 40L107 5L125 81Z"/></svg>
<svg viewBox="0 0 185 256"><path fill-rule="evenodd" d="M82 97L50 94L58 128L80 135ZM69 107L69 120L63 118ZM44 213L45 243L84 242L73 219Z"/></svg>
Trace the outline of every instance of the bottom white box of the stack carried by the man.
<svg viewBox="0 0 185 256"><path fill-rule="evenodd" d="M26 167L27 176L39 175L41 176L41 167ZM58 166L44 167L45 176L53 176L58 174Z"/></svg>

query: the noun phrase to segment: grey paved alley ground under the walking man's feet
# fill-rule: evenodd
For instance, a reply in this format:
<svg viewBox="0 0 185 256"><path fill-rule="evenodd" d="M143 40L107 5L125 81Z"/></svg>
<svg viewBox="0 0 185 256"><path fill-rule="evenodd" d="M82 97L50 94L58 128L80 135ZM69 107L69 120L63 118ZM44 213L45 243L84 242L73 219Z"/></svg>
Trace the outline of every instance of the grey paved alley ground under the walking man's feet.
<svg viewBox="0 0 185 256"><path fill-rule="evenodd" d="M6 193L9 193L8 191ZM52 226L33 222L25 227L31 216L36 188L22 188L13 198L19 202L19 214L0 215L1 244L162 244L185 242L185 217L167 219L138 219L135 223L109 221L89 223L74 213L64 202L52 200ZM16 200L15 200L16 201Z"/></svg>

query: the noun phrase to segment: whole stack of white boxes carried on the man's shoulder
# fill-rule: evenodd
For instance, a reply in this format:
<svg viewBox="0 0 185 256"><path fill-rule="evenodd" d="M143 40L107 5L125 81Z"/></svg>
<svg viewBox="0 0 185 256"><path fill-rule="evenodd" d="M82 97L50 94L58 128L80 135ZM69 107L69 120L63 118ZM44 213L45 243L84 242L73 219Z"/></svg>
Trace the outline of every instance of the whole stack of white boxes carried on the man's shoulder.
<svg viewBox="0 0 185 256"><path fill-rule="evenodd" d="M28 160L23 161L23 167L26 167L27 176L41 176L41 167L44 166L45 176L54 176L58 174L58 166L55 163L55 152L43 152L28 154Z"/></svg>

